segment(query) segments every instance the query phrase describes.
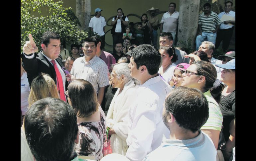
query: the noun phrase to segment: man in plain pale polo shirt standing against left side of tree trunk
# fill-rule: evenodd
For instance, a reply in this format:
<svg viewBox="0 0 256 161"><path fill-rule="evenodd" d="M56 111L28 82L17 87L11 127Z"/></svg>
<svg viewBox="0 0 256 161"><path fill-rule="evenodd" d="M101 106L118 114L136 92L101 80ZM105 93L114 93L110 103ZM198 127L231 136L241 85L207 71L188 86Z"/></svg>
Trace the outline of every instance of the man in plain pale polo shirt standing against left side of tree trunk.
<svg viewBox="0 0 256 161"><path fill-rule="evenodd" d="M160 34L162 32L170 32L173 35L173 44L176 43L176 32L179 23L179 12L175 11L176 3L169 4L169 11L166 12L160 21Z"/></svg>

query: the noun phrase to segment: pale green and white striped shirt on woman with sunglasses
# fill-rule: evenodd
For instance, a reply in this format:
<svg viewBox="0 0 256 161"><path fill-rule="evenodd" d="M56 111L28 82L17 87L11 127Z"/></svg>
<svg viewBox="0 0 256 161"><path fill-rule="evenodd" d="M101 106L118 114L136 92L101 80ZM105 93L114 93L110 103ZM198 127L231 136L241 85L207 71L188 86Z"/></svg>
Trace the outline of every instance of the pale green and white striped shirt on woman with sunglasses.
<svg viewBox="0 0 256 161"><path fill-rule="evenodd" d="M209 118L206 123L201 127L201 130L211 129L220 131L223 117L219 105L211 96L210 90L205 92L204 96L207 99L209 105Z"/></svg>

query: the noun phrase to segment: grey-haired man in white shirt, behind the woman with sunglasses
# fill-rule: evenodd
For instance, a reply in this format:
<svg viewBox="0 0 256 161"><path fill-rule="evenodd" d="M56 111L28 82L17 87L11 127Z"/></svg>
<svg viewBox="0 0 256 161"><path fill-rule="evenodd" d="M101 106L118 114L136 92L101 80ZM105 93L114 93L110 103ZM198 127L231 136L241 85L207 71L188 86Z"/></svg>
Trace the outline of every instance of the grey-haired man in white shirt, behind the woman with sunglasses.
<svg viewBox="0 0 256 161"><path fill-rule="evenodd" d="M215 49L215 46L212 42L203 41L199 46L198 51L204 51L207 54L208 58L211 58L211 63L216 68L218 73L218 72L221 72L221 68L215 66L215 64L222 64L222 61L212 57L214 49Z"/></svg>

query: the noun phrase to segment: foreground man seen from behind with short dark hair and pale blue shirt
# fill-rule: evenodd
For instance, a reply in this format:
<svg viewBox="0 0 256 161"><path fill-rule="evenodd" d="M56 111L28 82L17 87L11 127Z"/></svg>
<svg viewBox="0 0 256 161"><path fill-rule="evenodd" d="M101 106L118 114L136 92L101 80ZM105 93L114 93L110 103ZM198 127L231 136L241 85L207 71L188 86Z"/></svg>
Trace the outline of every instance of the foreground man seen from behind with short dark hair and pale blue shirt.
<svg viewBox="0 0 256 161"><path fill-rule="evenodd" d="M165 99L163 121L170 130L170 139L149 153L144 161L216 161L211 138L200 128L209 117L207 99L195 88L178 87Z"/></svg>

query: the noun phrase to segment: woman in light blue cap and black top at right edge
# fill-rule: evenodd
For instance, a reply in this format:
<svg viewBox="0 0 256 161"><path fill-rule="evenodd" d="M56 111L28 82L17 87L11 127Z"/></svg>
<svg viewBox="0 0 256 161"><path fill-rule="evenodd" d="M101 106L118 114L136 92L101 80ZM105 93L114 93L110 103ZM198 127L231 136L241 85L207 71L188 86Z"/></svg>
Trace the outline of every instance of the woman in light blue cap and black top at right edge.
<svg viewBox="0 0 256 161"><path fill-rule="evenodd" d="M232 155L232 148L235 147L235 59L216 66L223 68L220 80L224 83L224 90L219 107L223 115L223 134L226 141L226 149L222 153L228 160Z"/></svg>

